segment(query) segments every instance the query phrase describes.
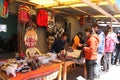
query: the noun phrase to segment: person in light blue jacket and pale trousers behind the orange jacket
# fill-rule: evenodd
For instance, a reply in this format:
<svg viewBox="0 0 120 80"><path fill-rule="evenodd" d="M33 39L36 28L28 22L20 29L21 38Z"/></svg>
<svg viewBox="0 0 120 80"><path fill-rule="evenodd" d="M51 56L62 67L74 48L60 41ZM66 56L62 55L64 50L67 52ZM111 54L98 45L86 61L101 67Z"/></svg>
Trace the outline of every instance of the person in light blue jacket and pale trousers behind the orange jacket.
<svg viewBox="0 0 120 80"><path fill-rule="evenodd" d="M101 60L102 60L102 56L104 54L104 48L105 48L105 34L100 29L100 26L96 23L92 25L92 28L99 35L99 38L100 38L100 43L97 49L98 57L96 61L97 64L95 66L95 76L94 76L95 78L99 78L101 74Z"/></svg>

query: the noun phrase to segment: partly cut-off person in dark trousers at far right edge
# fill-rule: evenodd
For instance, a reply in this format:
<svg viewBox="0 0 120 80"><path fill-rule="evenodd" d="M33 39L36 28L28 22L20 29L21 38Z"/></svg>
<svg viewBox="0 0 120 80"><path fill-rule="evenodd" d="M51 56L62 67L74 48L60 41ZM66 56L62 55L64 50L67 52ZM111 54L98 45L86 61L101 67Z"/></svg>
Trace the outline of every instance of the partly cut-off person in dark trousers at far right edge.
<svg viewBox="0 0 120 80"><path fill-rule="evenodd" d="M116 44L115 65L118 65L118 63L120 63L120 31L117 32L117 39L119 43Z"/></svg>

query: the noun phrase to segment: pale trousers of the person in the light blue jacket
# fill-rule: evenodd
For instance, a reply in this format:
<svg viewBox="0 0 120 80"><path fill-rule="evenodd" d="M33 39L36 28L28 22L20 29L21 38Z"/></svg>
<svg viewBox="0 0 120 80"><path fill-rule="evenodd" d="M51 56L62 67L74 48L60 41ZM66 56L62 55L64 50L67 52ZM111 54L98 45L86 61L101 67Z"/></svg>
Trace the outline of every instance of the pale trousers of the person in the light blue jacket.
<svg viewBox="0 0 120 80"><path fill-rule="evenodd" d="M97 57L97 61L96 61L96 65L95 65L95 77L99 78L100 74L101 74L101 58L102 58L103 54L99 54L98 53L98 57Z"/></svg>

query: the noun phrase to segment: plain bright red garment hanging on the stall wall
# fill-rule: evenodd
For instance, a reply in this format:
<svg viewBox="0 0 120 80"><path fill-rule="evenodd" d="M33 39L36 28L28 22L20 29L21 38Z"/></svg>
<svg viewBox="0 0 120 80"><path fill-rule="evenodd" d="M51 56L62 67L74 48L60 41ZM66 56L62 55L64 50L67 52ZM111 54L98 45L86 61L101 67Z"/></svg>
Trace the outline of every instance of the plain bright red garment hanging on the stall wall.
<svg viewBox="0 0 120 80"><path fill-rule="evenodd" d="M48 12L44 9L39 10L37 15L37 25L40 27L47 27L48 26Z"/></svg>

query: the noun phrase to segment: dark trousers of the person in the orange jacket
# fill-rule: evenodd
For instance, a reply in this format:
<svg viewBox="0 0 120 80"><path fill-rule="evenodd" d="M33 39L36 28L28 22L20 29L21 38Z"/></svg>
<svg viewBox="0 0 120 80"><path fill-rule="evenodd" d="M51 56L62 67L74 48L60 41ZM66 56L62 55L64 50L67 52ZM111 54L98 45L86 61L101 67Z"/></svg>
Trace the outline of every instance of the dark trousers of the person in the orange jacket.
<svg viewBox="0 0 120 80"><path fill-rule="evenodd" d="M87 70L87 80L94 80L94 67L96 65L96 60L86 59L85 64Z"/></svg>

